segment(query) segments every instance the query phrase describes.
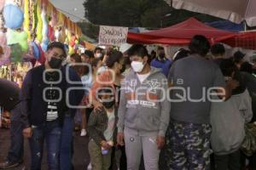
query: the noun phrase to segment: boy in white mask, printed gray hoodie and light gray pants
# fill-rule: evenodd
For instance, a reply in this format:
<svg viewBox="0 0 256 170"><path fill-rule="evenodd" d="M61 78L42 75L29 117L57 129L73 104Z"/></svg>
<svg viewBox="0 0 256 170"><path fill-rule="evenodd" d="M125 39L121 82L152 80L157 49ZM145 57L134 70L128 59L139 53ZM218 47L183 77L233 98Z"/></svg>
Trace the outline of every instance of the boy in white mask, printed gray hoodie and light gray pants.
<svg viewBox="0 0 256 170"><path fill-rule="evenodd" d="M158 170L170 117L167 80L160 70L148 65L143 45L132 46L128 54L132 70L122 83L117 142L125 144L128 170L139 168L142 153L145 169Z"/></svg>

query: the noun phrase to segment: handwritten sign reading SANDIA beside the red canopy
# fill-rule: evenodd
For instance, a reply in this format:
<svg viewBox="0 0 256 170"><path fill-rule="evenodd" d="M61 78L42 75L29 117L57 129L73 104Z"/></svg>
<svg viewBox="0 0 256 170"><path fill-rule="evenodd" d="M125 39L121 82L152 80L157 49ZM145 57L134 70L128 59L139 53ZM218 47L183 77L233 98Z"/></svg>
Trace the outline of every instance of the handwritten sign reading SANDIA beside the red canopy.
<svg viewBox="0 0 256 170"><path fill-rule="evenodd" d="M127 41L128 27L101 26L99 43L120 46Z"/></svg>

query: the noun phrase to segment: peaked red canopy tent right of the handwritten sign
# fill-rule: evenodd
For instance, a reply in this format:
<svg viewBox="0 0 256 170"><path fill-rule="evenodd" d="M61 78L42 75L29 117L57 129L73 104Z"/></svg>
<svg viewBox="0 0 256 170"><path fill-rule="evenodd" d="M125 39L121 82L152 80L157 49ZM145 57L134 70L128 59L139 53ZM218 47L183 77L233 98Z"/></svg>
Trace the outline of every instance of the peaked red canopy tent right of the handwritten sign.
<svg viewBox="0 0 256 170"><path fill-rule="evenodd" d="M218 30L201 23L199 20L195 20L195 18L190 18L175 26L156 31L148 31L145 33L129 32L127 42L186 45L189 44L192 37L198 34L204 35L212 43L224 41L236 35L234 32Z"/></svg>

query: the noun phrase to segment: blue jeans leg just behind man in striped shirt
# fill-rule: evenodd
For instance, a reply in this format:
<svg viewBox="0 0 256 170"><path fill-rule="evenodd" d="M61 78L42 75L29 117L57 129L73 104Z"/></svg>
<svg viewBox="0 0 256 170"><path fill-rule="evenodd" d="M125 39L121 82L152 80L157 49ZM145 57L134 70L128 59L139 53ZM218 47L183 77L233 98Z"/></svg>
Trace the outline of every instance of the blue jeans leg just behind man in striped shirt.
<svg viewBox="0 0 256 170"><path fill-rule="evenodd" d="M61 133L61 170L73 169L73 116L66 115Z"/></svg>

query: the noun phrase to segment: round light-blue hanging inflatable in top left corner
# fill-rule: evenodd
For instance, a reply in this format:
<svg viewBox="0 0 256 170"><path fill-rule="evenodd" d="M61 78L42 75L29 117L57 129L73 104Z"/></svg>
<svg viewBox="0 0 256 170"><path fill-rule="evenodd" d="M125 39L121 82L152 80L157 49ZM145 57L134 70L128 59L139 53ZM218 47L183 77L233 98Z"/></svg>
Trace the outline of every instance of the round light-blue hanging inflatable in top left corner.
<svg viewBox="0 0 256 170"><path fill-rule="evenodd" d="M6 27L16 30L22 26L24 14L19 7L8 4L3 8L3 18Z"/></svg>

